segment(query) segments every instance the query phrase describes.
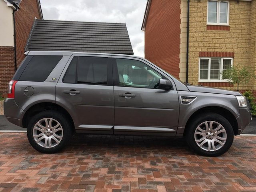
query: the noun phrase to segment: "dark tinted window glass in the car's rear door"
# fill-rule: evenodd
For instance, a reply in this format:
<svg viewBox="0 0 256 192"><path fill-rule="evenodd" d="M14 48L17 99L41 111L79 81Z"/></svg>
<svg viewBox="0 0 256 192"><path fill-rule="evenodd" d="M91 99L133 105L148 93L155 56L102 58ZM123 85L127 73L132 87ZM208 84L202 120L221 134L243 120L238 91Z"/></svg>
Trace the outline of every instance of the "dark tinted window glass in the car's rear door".
<svg viewBox="0 0 256 192"><path fill-rule="evenodd" d="M64 76L64 83L107 84L108 58L74 56Z"/></svg>

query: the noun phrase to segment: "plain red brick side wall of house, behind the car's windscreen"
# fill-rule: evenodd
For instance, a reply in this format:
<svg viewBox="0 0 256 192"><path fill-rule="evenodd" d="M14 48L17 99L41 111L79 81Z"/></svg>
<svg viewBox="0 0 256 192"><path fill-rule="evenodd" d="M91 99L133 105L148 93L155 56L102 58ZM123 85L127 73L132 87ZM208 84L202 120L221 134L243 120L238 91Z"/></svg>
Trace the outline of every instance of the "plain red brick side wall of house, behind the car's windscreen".
<svg viewBox="0 0 256 192"><path fill-rule="evenodd" d="M145 27L145 58L179 77L181 0L152 0Z"/></svg>

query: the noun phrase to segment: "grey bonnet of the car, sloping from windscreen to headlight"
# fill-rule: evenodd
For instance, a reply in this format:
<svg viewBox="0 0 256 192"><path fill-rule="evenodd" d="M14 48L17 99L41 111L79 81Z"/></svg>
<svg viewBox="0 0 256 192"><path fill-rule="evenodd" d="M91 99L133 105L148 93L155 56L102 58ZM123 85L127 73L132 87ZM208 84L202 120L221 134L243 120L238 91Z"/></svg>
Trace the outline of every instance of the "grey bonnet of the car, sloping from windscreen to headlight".
<svg viewBox="0 0 256 192"><path fill-rule="evenodd" d="M242 95L238 91L230 91L230 90L217 89L212 87L204 87L204 86L187 86L187 87L192 92L216 93L216 94L226 94L226 95Z"/></svg>

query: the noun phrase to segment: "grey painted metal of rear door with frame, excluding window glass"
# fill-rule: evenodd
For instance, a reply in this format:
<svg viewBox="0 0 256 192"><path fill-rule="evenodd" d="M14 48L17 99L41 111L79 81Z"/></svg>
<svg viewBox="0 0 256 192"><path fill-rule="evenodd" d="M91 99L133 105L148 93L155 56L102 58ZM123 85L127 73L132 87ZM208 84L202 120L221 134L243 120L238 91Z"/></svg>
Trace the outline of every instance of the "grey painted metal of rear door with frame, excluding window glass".
<svg viewBox="0 0 256 192"><path fill-rule="evenodd" d="M63 83L62 79L74 56L94 56L94 54L73 54L58 84L56 85L56 104L65 108L72 117L75 129L80 132L88 130L102 131L102 126L114 126L114 94L113 86L94 84ZM100 55L111 58L111 55ZM65 94L65 90L77 90L80 94ZM94 125L88 127L86 125ZM81 126L84 125L84 126ZM98 126L96 126L98 125ZM112 129L104 129L112 133Z"/></svg>

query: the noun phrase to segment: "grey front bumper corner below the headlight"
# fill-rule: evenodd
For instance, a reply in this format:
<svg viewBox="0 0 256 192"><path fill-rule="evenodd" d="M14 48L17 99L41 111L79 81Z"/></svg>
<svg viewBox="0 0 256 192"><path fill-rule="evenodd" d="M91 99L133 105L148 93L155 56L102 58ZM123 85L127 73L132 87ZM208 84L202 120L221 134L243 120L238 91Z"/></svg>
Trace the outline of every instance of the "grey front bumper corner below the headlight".
<svg viewBox="0 0 256 192"><path fill-rule="evenodd" d="M240 115L236 118L238 122L238 134L240 135L243 130L248 126L252 119L252 113L249 108L239 108Z"/></svg>

